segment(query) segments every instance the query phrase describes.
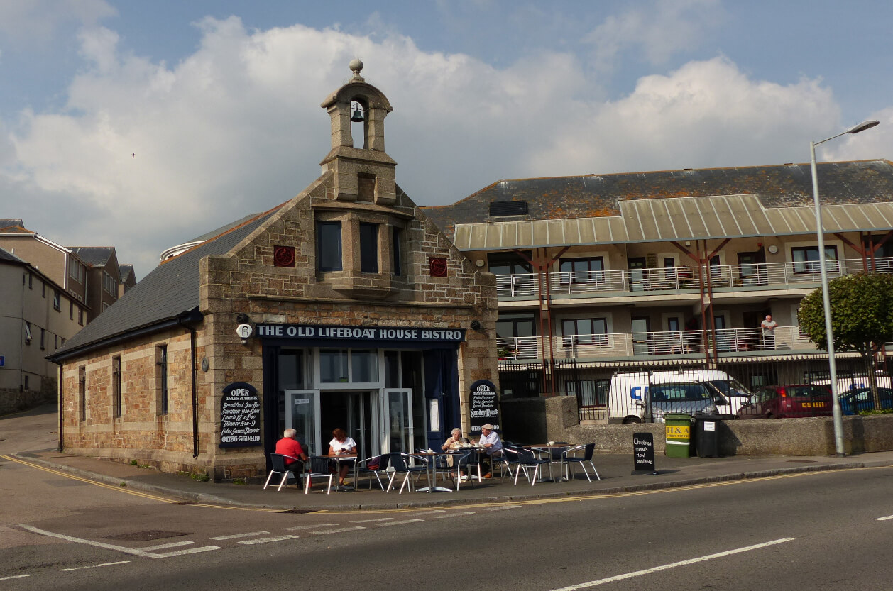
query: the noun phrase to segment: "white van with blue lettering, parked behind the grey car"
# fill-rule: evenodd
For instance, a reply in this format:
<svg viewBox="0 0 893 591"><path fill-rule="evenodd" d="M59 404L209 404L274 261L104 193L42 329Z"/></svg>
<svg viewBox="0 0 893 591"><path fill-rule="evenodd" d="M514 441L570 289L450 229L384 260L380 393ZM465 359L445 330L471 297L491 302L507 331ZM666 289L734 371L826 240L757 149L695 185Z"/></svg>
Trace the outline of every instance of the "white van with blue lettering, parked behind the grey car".
<svg viewBox="0 0 893 591"><path fill-rule="evenodd" d="M644 401L647 389L654 384L677 382L705 382L725 396L728 404L717 404L721 414L732 416L738 412L750 392L737 379L720 370L636 371L615 373L608 391L608 419L622 422L642 422L645 418Z"/></svg>

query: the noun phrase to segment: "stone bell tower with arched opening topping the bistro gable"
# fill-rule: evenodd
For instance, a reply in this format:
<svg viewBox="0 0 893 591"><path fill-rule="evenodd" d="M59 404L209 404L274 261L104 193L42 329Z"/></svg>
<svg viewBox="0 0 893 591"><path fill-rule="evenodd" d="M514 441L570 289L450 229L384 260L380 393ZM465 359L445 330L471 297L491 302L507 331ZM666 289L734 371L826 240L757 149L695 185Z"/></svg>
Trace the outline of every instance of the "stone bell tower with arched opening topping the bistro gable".
<svg viewBox="0 0 893 591"><path fill-rule="evenodd" d="M396 162L385 154L385 117L394 109L381 91L360 75L363 62L352 60L349 67L354 72L350 81L320 105L329 112L332 126L332 146L320 162L322 171L334 173L338 201L393 205ZM352 106L359 108L352 110ZM363 137L357 141L361 138L354 137L351 122L359 122L361 117Z"/></svg>

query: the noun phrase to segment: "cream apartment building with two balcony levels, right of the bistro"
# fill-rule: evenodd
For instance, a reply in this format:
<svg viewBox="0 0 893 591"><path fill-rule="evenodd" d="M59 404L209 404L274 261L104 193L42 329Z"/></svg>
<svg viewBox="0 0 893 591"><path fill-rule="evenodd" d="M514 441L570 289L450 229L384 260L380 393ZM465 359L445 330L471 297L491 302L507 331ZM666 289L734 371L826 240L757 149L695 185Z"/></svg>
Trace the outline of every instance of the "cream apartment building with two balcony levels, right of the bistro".
<svg viewBox="0 0 893 591"><path fill-rule="evenodd" d="M893 272L893 163L818 177L829 277ZM562 388L599 405L624 367L734 367L756 387L803 379L774 361L822 356L797 323L821 275L808 163L502 180L424 209L497 275L504 396L558 391L558 371L513 371L531 362L593 368Z"/></svg>

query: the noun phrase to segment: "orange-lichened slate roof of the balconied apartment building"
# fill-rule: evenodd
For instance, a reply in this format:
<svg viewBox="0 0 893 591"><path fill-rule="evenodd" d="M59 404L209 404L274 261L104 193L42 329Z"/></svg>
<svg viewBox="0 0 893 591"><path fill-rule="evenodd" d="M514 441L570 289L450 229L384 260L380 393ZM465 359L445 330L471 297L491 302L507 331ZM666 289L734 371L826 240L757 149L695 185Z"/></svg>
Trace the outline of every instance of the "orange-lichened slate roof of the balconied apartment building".
<svg viewBox="0 0 893 591"><path fill-rule="evenodd" d="M893 162L818 164L822 204L893 202ZM456 225L620 216L621 203L676 197L753 195L766 208L808 206L809 164L500 180L452 205L422 207L450 239ZM526 201L527 215L490 217L489 204Z"/></svg>

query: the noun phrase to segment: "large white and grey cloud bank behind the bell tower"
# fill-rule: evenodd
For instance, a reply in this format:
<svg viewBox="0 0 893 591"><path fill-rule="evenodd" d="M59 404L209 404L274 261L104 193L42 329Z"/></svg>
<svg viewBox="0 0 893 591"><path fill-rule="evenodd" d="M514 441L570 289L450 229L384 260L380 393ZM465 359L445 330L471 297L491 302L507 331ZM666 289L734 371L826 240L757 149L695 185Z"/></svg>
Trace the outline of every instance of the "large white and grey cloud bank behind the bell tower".
<svg viewBox="0 0 893 591"><path fill-rule="evenodd" d="M500 70L396 35L249 32L236 18L199 26L201 45L174 66L121 54L113 31L85 30L89 67L63 112L6 124L14 153L0 149L0 195L22 204L8 215L68 245L116 246L142 277L163 248L280 204L317 177L330 149L319 105L355 56L395 108L387 150L419 204L452 203L498 179L802 162L801 139L833 133L839 120L819 81L753 80L722 58L640 79L608 102L592 98L595 82L571 54ZM889 154L882 147L875 155Z"/></svg>

